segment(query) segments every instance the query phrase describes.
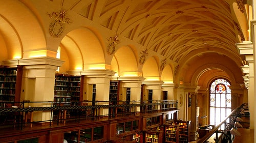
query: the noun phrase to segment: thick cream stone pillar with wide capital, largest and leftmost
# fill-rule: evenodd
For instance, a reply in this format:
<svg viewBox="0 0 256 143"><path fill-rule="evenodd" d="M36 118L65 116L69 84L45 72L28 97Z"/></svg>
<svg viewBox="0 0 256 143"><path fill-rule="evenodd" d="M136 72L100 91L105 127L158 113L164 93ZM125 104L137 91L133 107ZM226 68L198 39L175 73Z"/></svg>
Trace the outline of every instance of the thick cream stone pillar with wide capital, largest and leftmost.
<svg viewBox="0 0 256 143"><path fill-rule="evenodd" d="M30 101L53 101L55 73L63 64L59 59L44 57L4 61L8 66L23 66L22 93L20 99ZM31 103L29 106L51 106L51 103ZM49 121L51 111L34 111L33 121ZM49 123L49 122L48 122ZM42 123L45 124L45 123Z"/></svg>

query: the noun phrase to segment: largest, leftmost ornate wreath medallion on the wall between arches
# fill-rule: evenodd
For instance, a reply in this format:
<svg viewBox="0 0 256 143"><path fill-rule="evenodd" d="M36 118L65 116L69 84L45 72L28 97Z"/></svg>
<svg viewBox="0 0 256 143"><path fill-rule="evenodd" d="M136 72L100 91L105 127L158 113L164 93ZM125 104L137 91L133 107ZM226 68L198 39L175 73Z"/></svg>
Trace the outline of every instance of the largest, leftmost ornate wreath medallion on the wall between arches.
<svg viewBox="0 0 256 143"><path fill-rule="evenodd" d="M64 31L65 24L70 24L71 20L67 17L67 10L61 9L59 12L48 14L53 21L49 25L49 33L54 38L59 38Z"/></svg>

